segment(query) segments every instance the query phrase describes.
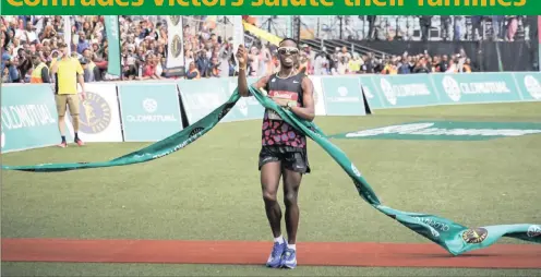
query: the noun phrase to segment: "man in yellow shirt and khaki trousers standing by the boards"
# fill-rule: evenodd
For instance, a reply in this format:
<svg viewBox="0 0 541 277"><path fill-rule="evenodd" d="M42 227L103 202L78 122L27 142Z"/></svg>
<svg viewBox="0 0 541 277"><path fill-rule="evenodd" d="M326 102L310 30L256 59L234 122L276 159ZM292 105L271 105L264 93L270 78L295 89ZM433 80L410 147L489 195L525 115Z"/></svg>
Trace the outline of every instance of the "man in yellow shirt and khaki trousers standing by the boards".
<svg viewBox="0 0 541 277"><path fill-rule="evenodd" d="M68 146L65 142L65 107L70 109L70 115L73 120L73 131L75 132L75 143L83 146L84 143L79 137L79 95L77 95L77 81L81 85L81 97L86 98L85 84L83 77L83 68L77 59L69 56L68 45L62 44L59 46L60 58L51 64L51 73L55 76L55 99L57 103L58 111L58 128L62 136L60 147Z"/></svg>

